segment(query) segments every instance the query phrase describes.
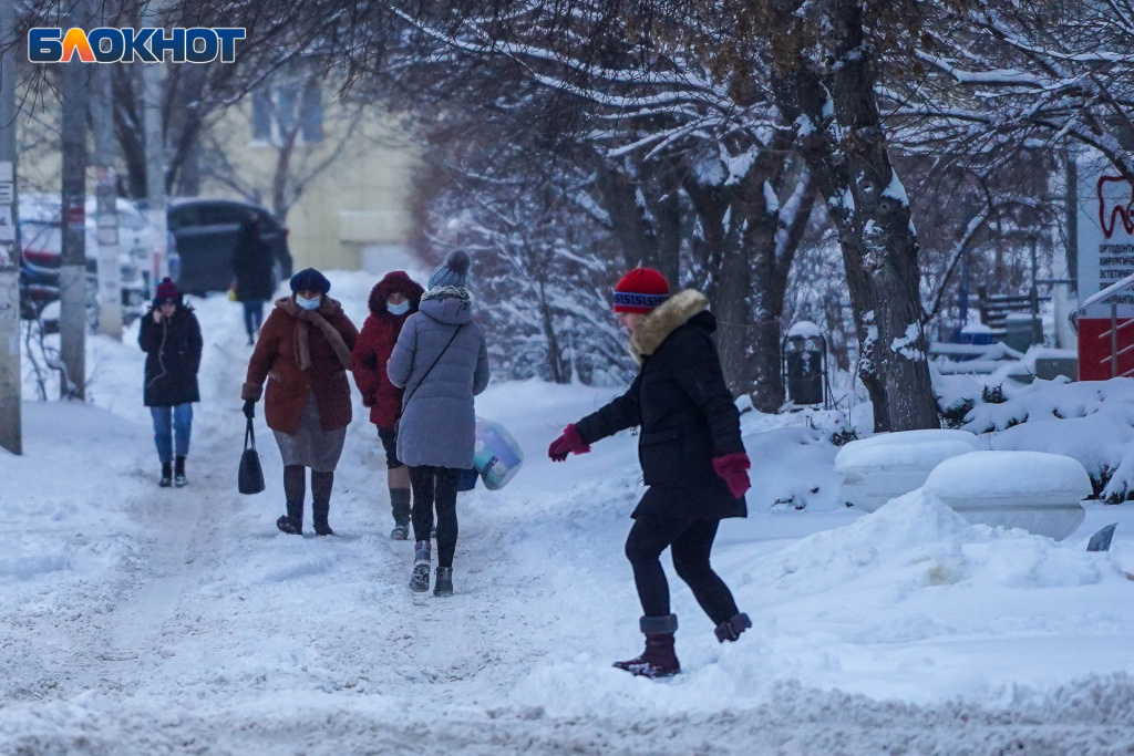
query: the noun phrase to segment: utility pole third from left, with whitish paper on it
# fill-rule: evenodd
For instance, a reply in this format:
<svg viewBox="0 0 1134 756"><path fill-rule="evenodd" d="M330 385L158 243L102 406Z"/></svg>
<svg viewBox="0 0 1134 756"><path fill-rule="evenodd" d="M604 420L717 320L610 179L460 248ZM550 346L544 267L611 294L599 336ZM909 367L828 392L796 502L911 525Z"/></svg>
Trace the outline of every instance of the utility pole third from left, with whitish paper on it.
<svg viewBox="0 0 1134 756"><path fill-rule="evenodd" d="M110 67L94 69L94 195L99 240L99 330L122 339L122 272L118 257L118 177L115 173L113 92Z"/></svg>

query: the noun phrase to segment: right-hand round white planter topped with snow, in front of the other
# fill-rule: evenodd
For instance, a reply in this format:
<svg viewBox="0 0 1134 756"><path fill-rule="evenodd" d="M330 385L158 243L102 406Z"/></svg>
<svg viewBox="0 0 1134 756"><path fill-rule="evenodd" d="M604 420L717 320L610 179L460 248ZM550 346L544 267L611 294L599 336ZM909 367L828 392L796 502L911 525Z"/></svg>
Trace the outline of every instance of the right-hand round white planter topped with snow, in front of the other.
<svg viewBox="0 0 1134 756"><path fill-rule="evenodd" d="M974 451L942 461L925 481L967 521L1063 541L1083 524L1092 493L1078 460L1041 451Z"/></svg>

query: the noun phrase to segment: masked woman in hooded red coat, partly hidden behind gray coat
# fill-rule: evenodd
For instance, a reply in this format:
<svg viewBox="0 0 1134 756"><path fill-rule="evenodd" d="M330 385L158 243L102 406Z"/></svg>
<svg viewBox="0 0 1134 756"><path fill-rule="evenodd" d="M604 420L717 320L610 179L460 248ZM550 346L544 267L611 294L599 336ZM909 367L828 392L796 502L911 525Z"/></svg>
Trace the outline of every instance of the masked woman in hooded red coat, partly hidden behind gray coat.
<svg viewBox="0 0 1134 756"><path fill-rule="evenodd" d="M378 426L378 438L386 449L387 481L393 530L390 537L409 536L409 469L398 460L398 433L403 390L386 376L386 363L406 318L417 312L425 289L403 271L387 273L370 292L370 315L354 349L354 376L362 404L370 407L370 422Z"/></svg>

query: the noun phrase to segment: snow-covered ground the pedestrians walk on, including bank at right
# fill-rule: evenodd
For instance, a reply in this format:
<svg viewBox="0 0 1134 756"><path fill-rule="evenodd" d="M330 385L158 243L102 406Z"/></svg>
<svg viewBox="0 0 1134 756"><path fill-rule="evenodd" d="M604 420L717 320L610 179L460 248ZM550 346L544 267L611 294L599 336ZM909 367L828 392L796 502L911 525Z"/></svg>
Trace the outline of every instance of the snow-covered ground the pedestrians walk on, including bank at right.
<svg viewBox="0 0 1134 756"><path fill-rule="evenodd" d="M333 281L361 324L371 280ZM0 456L0 753L1134 748L1134 583L1115 566L1134 557L1128 537L1108 560L1081 534L1056 546L989 533L920 500L860 518L822 491L769 512L781 478L829 485L833 453L802 428L753 434L754 517L722 529L717 563L755 628L718 646L675 581L686 672L632 679L609 663L641 643L621 557L635 440L564 465L542 455L611 391L490 389L479 413L513 431L525 470L463 495L457 593L420 597L412 544L386 537L384 465L361 407L336 537L276 530L279 457L259 418L268 491L236 493L251 348L235 305L198 314L188 487L155 485L132 341L94 345L94 406L29 402L27 453ZM1127 509L1092 509L1083 532L1117 519L1134 534Z"/></svg>

